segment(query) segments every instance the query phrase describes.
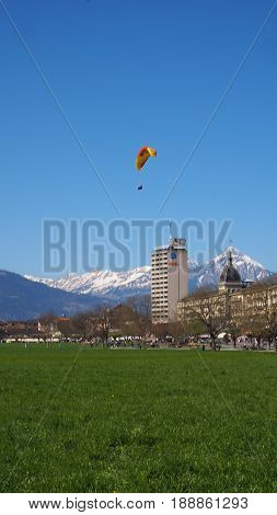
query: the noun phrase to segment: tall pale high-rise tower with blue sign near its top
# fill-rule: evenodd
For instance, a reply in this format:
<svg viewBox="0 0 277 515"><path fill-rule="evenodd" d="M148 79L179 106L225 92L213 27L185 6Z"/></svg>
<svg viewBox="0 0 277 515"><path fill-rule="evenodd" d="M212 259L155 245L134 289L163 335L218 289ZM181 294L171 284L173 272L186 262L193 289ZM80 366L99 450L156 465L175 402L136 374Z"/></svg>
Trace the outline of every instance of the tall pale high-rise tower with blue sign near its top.
<svg viewBox="0 0 277 515"><path fill-rule="evenodd" d="M176 320L177 301L188 295L187 250L184 238L171 238L151 258L151 301L153 323Z"/></svg>

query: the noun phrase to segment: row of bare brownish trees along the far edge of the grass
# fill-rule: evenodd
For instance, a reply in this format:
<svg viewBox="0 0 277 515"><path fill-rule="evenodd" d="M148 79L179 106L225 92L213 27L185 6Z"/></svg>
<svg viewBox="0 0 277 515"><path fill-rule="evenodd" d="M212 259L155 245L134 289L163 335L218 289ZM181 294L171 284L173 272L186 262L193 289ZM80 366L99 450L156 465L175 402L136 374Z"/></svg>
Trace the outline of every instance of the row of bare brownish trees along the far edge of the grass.
<svg viewBox="0 0 277 515"><path fill-rule="evenodd" d="M113 336L141 336L161 341L173 336L174 341L198 337L206 333L209 335L211 347L216 350L220 333L228 333L228 337L235 346L241 335L255 337L257 346L267 340L269 348L274 345L277 351L277 302L268 299L268 286L264 283L249 289L247 309L231 312L228 294L217 295L211 290L198 290L191 298L194 302L186 307L183 320L172 323L151 323L150 297L130 298L127 304L114 308L102 307L85 313L69 318L55 318L51 313L39 319L39 337L50 342L55 332L65 337L79 339L92 342L95 339L107 343ZM249 295L254 291L255 295ZM244 294L245 295L245 294ZM252 299L252 300L251 300ZM189 304L188 304L189 305ZM232 307L233 311L233 307ZM20 330L19 330L20 332Z"/></svg>

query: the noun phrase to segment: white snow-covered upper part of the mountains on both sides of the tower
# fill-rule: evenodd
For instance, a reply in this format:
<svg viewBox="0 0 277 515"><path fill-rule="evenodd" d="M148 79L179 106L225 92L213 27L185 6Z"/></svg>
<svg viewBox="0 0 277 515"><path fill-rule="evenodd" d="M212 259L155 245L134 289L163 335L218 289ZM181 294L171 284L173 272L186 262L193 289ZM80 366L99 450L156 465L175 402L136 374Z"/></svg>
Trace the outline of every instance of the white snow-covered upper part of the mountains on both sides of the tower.
<svg viewBox="0 0 277 515"><path fill-rule="evenodd" d="M243 281L259 281L270 275L262 264L243 254L240 250L229 247L222 254L199 265L195 260L188 260L189 289L197 287L217 286L223 267L228 264L228 251L232 252L233 265ZM124 300L130 296L146 295L151 288L151 267L142 266L128 272L92 271L85 274L69 274L58 279L26 278L44 283L54 288L74 294L105 296L113 300Z"/></svg>

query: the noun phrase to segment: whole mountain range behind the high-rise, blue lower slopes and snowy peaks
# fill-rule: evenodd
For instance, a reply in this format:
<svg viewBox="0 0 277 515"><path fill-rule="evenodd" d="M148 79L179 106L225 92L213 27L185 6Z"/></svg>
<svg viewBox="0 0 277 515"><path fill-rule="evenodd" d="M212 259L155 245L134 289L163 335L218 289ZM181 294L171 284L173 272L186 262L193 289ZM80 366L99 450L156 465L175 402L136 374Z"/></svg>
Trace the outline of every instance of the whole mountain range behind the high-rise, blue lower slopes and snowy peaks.
<svg viewBox="0 0 277 515"><path fill-rule="evenodd" d="M261 263L234 248L230 248L233 264L243 281L261 281L273 275ZM227 251L199 265L189 260L189 291L195 288L217 286L220 273L228 263ZM22 276L0 271L0 319L35 319L45 312L74 314L97 306L116 305L129 297L149 295L150 266L128 272L92 271L69 274L59 279Z"/></svg>

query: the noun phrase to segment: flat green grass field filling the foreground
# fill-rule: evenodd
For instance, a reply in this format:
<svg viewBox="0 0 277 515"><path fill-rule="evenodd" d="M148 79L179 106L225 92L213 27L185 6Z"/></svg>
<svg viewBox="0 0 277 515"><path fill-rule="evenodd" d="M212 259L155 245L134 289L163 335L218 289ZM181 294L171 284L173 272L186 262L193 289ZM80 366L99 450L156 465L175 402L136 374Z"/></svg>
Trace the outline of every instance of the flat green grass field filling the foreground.
<svg viewBox="0 0 277 515"><path fill-rule="evenodd" d="M277 355L0 346L7 492L274 492Z"/></svg>

